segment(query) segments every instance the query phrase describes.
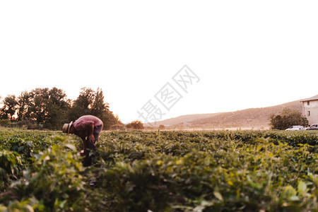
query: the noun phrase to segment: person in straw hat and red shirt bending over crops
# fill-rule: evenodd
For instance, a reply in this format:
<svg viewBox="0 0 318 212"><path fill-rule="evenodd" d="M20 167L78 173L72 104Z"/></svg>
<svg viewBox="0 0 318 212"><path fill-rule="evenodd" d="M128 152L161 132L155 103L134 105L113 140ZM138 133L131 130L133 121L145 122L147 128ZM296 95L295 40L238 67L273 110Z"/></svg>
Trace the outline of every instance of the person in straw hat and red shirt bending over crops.
<svg viewBox="0 0 318 212"><path fill-rule="evenodd" d="M82 139L84 149L81 151L81 154L85 155L84 166L91 165L92 163L90 151L95 151L95 143L98 141L103 126L102 120L92 115L79 117L75 122L64 124L63 126L64 133L75 134Z"/></svg>

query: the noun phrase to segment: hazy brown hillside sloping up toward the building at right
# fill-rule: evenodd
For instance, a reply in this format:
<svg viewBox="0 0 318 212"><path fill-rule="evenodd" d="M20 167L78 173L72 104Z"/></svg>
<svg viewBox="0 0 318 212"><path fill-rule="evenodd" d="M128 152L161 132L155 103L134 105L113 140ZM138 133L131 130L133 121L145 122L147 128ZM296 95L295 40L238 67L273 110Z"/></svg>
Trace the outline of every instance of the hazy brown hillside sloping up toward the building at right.
<svg viewBox="0 0 318 212"><path fill-rule="evenodd" d="M284 107L289 107L293 110L301 112L302 105L300 100L288 102L282 105L261 108L249 108L246 110L237 110L235 112L219 112L211 114L189 114L165 119L156 123L151 123L153 126L163 124L165 126L187 126L189 128L254 128L268 129L269 115L281 113ZM145 124L146 126L148 124Z"/></svg>

